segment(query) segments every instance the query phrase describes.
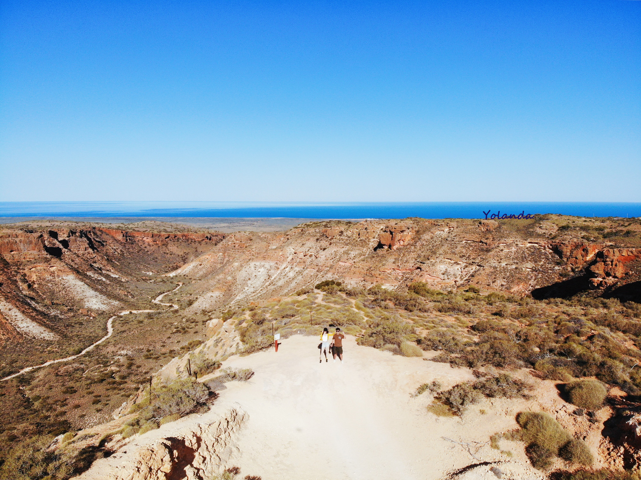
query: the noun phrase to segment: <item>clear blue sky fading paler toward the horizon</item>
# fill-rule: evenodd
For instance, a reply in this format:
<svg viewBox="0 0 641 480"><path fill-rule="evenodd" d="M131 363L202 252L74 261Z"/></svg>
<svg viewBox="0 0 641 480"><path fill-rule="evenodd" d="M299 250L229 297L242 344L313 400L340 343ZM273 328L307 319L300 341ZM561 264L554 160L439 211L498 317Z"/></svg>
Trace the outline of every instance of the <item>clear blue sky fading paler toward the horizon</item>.
<svg viewBox="0 0 641 480"><path fill-rule="evenodd" d="M0 3L0 200L641 201L641 2Z"/></svg>

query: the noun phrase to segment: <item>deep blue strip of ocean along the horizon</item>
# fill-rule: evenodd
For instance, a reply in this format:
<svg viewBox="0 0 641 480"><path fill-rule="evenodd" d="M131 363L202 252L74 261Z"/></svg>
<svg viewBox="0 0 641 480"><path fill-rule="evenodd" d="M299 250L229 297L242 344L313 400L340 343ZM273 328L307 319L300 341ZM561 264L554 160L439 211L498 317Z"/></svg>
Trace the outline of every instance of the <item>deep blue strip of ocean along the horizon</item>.
<svg viewBox="0 0 641 480"><path fill-rule="evenodd" d="M490 218L558 213L641 217L641 203L608 202L0 202L0 217Z"/></svg>

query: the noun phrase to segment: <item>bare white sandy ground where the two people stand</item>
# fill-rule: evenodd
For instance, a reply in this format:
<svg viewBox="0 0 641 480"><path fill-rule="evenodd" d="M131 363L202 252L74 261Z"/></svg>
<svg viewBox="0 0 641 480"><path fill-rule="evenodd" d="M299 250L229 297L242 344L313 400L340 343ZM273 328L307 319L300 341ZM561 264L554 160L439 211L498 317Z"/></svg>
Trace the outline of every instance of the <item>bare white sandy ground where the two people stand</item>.
<svg viewBox="0 0 641 480"><path fill-rule="evenodd" d="M486 400L461 419L428 413L429 393L410 397L428 381L441 381L448 388L472 380L466 369L357 346L353 337L344 341L344 364L331 357L319 364L317 344L316 337L296 335L282 340L278 353L271 349L230 357L223 367L253 369L256 374L250 381L227 383L210 412L134 437L112 457L94 463L82 478L130 478L124 471L141 447L201 428L230 408L246 412L247 420L232 448L235 453L222 467L237 465L242 476L263 480L440 479L479 463L442 436L487 442L476 451L480 461L507 460L490 449L488 440L497 431L517 426L514 415L519 406L511 404L515 401ZM479 408L488 413L480 415ZM518 474L503 478L541 479L540 472L526 465L519 446L510 445L515 456L509 462L510 471ZM468 477L487 475L479 473Z"/></svg>

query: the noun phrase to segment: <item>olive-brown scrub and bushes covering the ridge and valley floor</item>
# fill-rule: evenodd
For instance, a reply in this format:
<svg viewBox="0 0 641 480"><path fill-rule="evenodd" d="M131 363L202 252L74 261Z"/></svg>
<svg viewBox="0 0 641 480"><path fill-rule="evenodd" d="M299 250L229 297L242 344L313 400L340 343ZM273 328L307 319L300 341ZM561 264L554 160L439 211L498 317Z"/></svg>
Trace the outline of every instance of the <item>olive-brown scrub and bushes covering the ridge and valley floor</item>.
<svg viewBox="0 0 641 480"><path fill-rule="evenodd" d="M394 355L422 356L424 351L436 350L439 354L432 361L469 367L478 376L476 381L447 390L438 383L417 387L413 396L429 392L434 397L428 412L442 417L464 415L470 405L484 397L527 398L529 385L506 372L521 367L533 369L538 378L562 382L562 396L588 411L603 406L612 386L630 396L641 394L641 305L634 302L589 296L537 301L498 292L481 294L474 285L437 291L422 282L397 291L381 285L367 291L351 289L333 280L315 287L298 291L292 298L217 313L233 322L244 344L242 355L270 348L272 328L281 334L281 339L287 339L294 334L320 335L324 326L340 326L345 333L358 337L358 344ZM19 435L28 436L29 440L3 452L0 471L4 477L62 479L85 468L97 454L102 454L99 449L74 450L74 438L68 440L67 447L53 452L45 447L51 444L53 435L73 435L83 426L72 424L68 413L82 410L85 413L81 415L85 416L88 412L103 415L95 417L96 422L107 419L119 403L134 393L134 387L146 381L150 371L202 343L198 337L202 336L208 317L176 321L173 313L163 313L119 319L116 326L121 335L131 331L129 326L142 325L150 332L159 325L171 328L163 333L160 348L154 351L137 349L110 355L99 351L91 359L83 359L83 363L51 369L54 378L65 382L62 397L51 397L42 389L24 390L26 396L20 400L24 408L17 408L12 423L3 424L3 441L8 445ZM203 356L194 359L192 367L203 375L216 372L221 363ZM491 369L502 372L483 373ZM223 370L216 380L224 383L250 377L251 371ZM16 380L17 387L29 383L29 375ZM142 435L182 415L206 409L213 397L210 389L192 380L154 385L152 400L145 392L142 402L132 410L137 417L113 435ZM521 429L510 438L527 445L526 452L535 467L547 468L554 458L574 465L592 464L585 444L572 438L551 417L523 412L517 420ZM24 428L26 424L42 428L34 428L28 435L26 431L16 431L17 426ZM44 432L53 435L40 435ZM221 479L231 479L238 474L223 475L228 477ZM606 470L578 470L574 474L559 473L558 478L605 480L611 478L609 475Z"/></svg>

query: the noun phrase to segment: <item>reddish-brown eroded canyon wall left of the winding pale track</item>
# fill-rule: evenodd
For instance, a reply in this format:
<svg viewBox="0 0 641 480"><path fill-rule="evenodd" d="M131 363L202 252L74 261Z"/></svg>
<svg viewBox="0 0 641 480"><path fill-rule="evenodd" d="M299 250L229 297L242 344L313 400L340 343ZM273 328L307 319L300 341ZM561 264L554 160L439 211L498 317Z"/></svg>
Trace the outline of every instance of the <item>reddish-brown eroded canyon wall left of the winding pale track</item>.
<svg viewBox="0 0 641 480"><path fill-rule="evenodd" d="M0 342L34 335L57 339L64 333L62 319L67 314L94 317L94 310L119 308L136 296L135 287L126 286L132 277L178 268L182 262L176 260L192 259L224 237L109 228L4 230L0 232L0 302L4 305ZM52 317L59 321L52 325Z"/></svg>

